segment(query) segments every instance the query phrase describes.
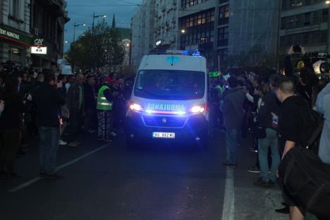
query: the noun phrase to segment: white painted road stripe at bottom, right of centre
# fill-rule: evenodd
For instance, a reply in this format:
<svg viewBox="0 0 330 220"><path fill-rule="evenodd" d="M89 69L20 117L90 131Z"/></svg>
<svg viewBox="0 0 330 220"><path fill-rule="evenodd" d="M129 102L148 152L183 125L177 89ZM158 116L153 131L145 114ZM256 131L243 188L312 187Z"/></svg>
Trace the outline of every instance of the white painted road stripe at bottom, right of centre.
<svg viewBox="0 0 330 220"><path fill-rule="evenodd" d="M226 183L224 193L224 207L222 209L222 220L235 219L235 187L233 168L226 168Z"/></svg>

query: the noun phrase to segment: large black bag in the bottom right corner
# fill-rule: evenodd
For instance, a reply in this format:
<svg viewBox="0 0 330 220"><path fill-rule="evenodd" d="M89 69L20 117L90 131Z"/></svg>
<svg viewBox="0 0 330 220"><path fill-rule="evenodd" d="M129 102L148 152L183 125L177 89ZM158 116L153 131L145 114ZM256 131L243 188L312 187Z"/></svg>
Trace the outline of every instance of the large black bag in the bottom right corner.
<svg viewBox="0 0 330 220"><path fill-rule="evenodd" d="M330 219L330 165L309 149L293 147L279 165L284 189L302 213Z"/></svg>

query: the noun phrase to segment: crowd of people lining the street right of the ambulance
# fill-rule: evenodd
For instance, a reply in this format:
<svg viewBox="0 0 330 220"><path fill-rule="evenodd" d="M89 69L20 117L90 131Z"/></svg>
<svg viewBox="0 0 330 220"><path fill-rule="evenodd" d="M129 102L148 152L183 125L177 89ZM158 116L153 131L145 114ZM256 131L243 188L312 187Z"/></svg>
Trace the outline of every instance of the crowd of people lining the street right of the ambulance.
<svg viewBox="0 0 330 220"><path fill-rule="evenodd" d="M302 68L299 76L244 72L212 79L211 124L226 132L224 166L237 166L238 146L243 139L252 137L250 146L257 157L256 164L248 171L260 173L255 185L273 187L281 179L278 171L281 160L293 147L306 146L304 135L308 136L308 128L304 122L309 118L306 114L314 112L320 117L323 115L324 126L322 135L317 134L320 142L314 143L317 149L313 150L323 163L330 164L330 83L326 83L318 80L309 68ZM252 135L247 136L249 131ZM280 186L285 207L276 212L290 213L291 219L304 219L308 212L306 207L288 193L281 181Z"/></svg>

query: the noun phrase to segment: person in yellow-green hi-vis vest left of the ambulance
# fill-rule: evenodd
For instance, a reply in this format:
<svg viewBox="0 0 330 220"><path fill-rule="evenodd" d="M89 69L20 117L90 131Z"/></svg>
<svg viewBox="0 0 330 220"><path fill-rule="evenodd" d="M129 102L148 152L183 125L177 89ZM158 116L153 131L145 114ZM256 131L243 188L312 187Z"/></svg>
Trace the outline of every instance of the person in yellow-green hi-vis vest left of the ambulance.
<svg viewBox="0 0 330 220"><path fill-rule="evenodd" d="M100 141L111 142L111 138L116 136L113 131L114 114L113 101L118 96L118 92L112 90L115 80L104 78L104 84L99 88L97 95L97 118L99 126L97 130L97 138Z"/></svg>

